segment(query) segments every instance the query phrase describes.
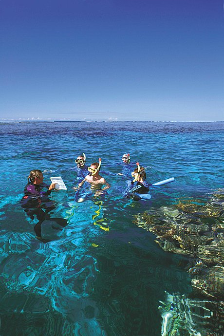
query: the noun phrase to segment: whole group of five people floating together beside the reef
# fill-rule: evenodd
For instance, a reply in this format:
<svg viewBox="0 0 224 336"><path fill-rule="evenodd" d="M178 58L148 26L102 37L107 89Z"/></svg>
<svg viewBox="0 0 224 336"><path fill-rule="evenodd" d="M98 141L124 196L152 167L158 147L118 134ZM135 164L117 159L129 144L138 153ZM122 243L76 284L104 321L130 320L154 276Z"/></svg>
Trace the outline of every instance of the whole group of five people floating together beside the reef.
<svg viewBox="0 0 224 336"><path fill-rule="evenodd" d="M122 156L122 161L125 166L131 167L130 154L125 153ZM77 172L78 181L77 187L74 187L75 191L79 191L85 182L91 184L91 189L94 189L94 196L99 196L105 193L105 191L111 187L109 183L99 174L101 168L101 159L99 159L99 162L94 162L90 167L87 167L86 156L83 153L77 157L75 163L75 170ZM124 173L119 173L119 175L124 175ZM149 184L146 182L145 168L140 167L140 165L137 163L137 168L131 172L131 175L134 179L131 181L131 184L129 184L126 196L131 197L134 200L138 200L141 198L139 195L144 196L144 194L148 194L149 192ZM51 185L43 183L43 173L41 170L31 170L28 176L28 183L24 188L24 196L21 200L21 206L24 208L27 215L32 220L35 218L35 215L37 216L38 223L35 225L34 230L37 238L42 241L41 224L43 221L51 220L56 224L53 224L52 227L57 230L60 229L61 226L64 227L68 224L67 220L65 219L50 217L49 213L55 208L55 205L48 196L55 188L55 183L52 183ZM43 189L46 191L43 191ZM79 197L77 201L83 202L84 200L84 197Z"/></svg>

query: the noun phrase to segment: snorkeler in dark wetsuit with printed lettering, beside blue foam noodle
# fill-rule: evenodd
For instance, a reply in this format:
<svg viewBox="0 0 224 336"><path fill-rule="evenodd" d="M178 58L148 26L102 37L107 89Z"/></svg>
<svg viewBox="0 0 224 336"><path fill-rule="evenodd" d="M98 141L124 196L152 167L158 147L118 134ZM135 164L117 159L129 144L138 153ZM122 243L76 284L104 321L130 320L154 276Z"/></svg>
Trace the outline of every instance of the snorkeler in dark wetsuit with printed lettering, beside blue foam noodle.
<svg viewBox="0 0 224 336"><path fill-rule="evenodd" d="M145 199L149 200L149 183L146 181L146 171L144 167L140 167L137 163L137 168L131 173L134 180L131 182L131 187L127 191L127 197L131 197L134 200Z"/></svg>

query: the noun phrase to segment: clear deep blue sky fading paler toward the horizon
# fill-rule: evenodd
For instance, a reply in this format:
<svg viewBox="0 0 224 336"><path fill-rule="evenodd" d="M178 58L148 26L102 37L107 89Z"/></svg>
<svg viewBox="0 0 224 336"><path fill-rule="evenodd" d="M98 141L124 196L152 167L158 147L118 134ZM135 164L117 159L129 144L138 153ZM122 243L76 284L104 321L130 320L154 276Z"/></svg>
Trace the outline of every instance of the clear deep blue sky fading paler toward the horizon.
<svg viewBox="0 0 224 336"><path fill-rule="evenodd" d="M223 0L0 0L0 120L224 120Z"/></svg>

